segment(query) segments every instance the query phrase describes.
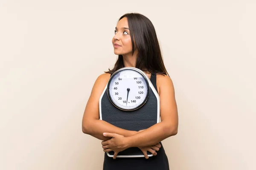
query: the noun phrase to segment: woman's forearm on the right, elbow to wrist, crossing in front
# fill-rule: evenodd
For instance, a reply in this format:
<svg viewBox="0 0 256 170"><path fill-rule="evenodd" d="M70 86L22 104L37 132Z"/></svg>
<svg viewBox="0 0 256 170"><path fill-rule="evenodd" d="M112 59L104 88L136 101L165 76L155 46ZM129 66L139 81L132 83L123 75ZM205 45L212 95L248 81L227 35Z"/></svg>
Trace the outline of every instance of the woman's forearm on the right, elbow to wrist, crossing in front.
<svg viewBox="0 0 256 170"><path fill-rule="evenodd" d="M128 147L150 146L176 134L176 126L169 125L169 122L160 122L142 132L128 136L126 142Z"/></svg>

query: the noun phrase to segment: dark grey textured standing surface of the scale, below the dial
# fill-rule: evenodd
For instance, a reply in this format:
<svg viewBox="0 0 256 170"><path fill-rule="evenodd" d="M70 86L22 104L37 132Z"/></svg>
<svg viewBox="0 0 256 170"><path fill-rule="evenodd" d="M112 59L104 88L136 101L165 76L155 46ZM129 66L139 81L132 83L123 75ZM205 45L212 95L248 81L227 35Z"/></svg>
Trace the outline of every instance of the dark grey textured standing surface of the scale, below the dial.
<svg viewBox="0 0 256 170"><path fill-rule="evenodd" d="M122 111L116 108L108 98L107 90L102 96L100 109L102 120L122 129L139 131L157 123L157 107L157 97L150 87L147 102L137 110ZM113 156L114 152L109 154ZM150 154L148 152L148 155ZM143 156L143 153L139 148L131 147L119 152L118 156Z"/></svg>

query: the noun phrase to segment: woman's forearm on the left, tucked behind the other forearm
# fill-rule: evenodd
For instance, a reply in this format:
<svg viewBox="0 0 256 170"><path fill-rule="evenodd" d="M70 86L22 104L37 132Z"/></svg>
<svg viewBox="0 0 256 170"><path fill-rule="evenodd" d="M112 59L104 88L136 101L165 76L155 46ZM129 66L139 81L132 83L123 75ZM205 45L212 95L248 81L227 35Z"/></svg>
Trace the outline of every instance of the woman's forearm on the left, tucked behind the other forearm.
<svg viewBox="0 0 256 170"><path fill-rule="evenodd" d="M82 129L84 133L89 134L103 141L111 139L109 137L103 136L104 132L117 133L125 137L132 136L135 133L137 133L136 131L125 130L125 129L116 127L114 125L111 125L110 123L105 122L103 120L97 120L97 119L92 120L90 122L86 122L85 125L82 126Z"/></svg>

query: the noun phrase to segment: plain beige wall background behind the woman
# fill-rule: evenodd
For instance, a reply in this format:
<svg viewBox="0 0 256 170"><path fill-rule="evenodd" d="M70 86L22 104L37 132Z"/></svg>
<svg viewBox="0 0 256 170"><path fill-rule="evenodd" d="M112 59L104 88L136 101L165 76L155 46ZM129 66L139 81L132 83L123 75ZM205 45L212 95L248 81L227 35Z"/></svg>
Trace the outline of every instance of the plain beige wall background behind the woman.
<svg viewBox="0 0 256 170"><path fill-rule="evenodd" d="M255 170L255 0L0 0L0 170L102 169L81 120L126 12L152 21L175 85L171 170Z"/></svg>

